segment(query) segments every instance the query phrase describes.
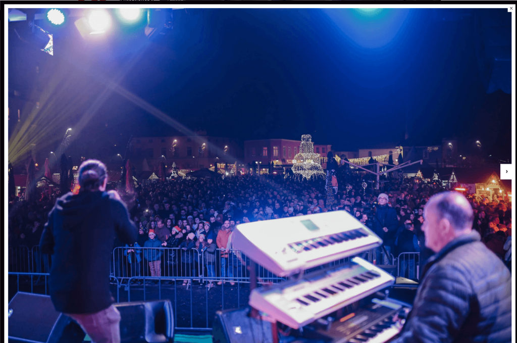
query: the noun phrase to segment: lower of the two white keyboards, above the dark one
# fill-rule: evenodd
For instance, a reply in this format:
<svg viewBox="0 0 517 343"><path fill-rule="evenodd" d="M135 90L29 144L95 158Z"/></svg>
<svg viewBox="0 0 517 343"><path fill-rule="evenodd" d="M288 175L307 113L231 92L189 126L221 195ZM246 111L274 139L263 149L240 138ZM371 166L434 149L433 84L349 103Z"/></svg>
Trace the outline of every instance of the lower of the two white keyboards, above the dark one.
<svg viewBox="0 0 517 343"><path fill-rule="evenodd" d="M298 329L394 282L394 277L355 257L350 262L306 274L301 279L254 289L250 306Z"/></svg>

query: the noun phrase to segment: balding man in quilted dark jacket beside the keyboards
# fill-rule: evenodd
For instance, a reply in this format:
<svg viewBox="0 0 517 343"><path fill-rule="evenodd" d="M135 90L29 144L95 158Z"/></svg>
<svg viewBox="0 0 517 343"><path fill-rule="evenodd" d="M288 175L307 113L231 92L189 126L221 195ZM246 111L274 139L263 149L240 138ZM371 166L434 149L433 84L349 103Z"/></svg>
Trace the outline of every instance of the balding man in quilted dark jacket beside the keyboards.
<svg viewBox="0 0 517 343"><path fill-rule="evenodd" d="M404 342L510 342L511 276L472 230L474 215L457 192L433 196L424 210L424 267Z"/></svg>

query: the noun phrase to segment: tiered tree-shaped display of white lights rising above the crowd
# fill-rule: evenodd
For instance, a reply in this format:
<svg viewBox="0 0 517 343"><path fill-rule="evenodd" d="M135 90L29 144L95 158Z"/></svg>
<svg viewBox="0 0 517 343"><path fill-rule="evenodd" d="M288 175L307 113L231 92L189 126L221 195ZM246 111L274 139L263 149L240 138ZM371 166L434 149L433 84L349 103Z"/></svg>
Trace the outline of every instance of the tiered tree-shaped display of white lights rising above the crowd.
<svg viewBox="0 0 517 343"><path fill-rule="evenodd" d="M310 180L311 177L326 176L321 166L320 155L314 153L314 143L311 139L311 135L301 136L300 152L293 160L292 171L294 178L298 180L302 177Z"/></svg>

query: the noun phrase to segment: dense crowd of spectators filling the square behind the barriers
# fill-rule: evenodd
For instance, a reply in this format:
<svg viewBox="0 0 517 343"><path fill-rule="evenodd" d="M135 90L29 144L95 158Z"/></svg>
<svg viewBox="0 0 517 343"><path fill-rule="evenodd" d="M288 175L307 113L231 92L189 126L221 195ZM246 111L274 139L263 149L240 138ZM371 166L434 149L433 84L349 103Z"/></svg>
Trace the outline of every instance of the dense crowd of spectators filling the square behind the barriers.
<svg viewBox="0 0 517 343"><path fill-rule="evenodd" d="M425 248L421 230L423 209L433 194L444 189L436 183L414 183L402 178L387 178L381 190L365 189L361 185L369 177L349 170L338 173L339 187L330 208L326 207L324 180L300 182L283 175L179 178L138 184L131 193L119 190L139 235L132 245L115 241L114 246L124 254L119 254L115 264L123 259L125 263L133 261L132 275L195 277L201 271L208 277L231 279L235 272L229 267L234 262L232 258L240 258L231 253L231 236L239 223L347 211L383 239L384 246L376 249L374 256L377 264L390 264L391 255L420 252L419 261L409 260L403 265L407 277L418 278L410 273L415 270L414 264L423 265L432 255ZM34 203L10 198L9 245L29 249L37 246L58 197L58 192L42 193ZM474 229L509 266L511 203L475 195L467 198L475 212ZM156 249L161 247L177 249ZM188 253L191 250L196 253ZM204 265L200 265L201 261ZM186 278L184 284L188 282Z"/></svg>

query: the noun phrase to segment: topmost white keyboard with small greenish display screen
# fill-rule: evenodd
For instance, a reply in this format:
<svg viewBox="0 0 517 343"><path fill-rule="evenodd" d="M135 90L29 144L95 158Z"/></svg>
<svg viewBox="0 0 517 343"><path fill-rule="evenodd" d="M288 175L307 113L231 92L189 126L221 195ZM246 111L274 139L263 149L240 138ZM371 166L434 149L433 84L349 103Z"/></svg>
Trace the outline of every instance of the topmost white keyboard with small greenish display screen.
<svg viewBox="0 0 517 343"><path fill-rule="evenodd" d="M382 243L345 211L244 223L232 235L234 249L278 276L356 255Z"/></svg>

